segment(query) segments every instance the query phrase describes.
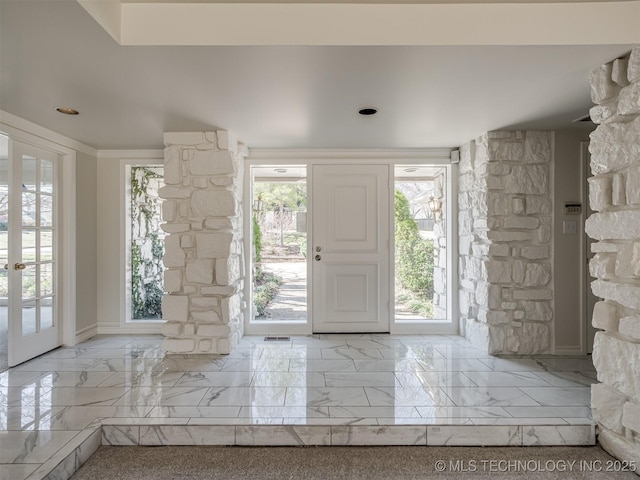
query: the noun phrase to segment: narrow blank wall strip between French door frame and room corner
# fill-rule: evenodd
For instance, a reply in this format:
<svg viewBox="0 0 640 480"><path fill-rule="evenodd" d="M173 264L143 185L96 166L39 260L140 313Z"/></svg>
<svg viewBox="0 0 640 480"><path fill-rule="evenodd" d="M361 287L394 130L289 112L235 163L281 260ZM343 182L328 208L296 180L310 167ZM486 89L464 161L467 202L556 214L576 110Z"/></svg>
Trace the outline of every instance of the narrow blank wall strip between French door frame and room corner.
<svg viewBox="0 0 640 480"><path fill-rule="evenodd" d="M76 154L76 335L97 327L97 158Z"/></svg>

